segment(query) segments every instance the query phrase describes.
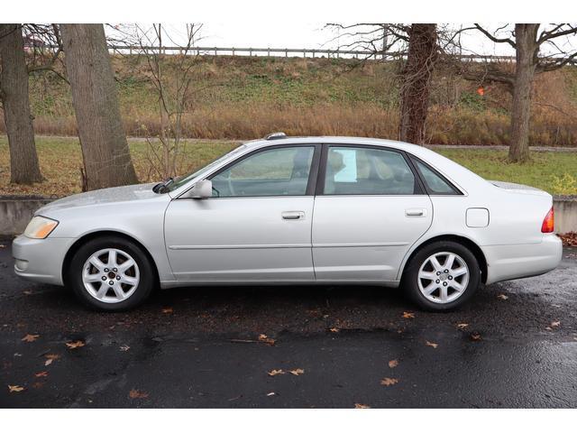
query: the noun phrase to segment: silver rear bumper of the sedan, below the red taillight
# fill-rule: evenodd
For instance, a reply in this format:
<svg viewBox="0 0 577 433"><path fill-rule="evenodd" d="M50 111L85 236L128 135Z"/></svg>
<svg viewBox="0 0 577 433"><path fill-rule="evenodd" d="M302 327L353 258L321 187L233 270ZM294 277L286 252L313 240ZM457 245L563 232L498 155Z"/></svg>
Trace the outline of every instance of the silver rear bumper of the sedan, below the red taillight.
<svg viewBox="0 0 577 433"><path fill-rule="evenodd" d="M563 244L556 235L544 235L539 244L490 245L482 250L490 284L553 271L561 263Z"/></svg>

